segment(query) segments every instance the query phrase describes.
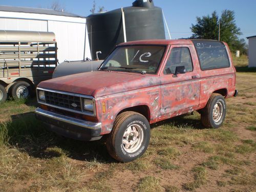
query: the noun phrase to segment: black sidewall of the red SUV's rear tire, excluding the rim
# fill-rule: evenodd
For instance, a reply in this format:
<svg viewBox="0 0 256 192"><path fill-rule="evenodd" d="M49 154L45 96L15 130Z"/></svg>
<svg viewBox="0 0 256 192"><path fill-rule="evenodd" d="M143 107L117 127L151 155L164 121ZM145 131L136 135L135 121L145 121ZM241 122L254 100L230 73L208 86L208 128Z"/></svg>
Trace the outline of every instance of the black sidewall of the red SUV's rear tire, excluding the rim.
<svg viewBox="0 0 256 192"><path fill-rule="evenodd" d="M218 121L218 122L215 122L214 121L214 118L213 118L213 110L214 110L214 105L217 103L217 102L221 102L222 103L222 117L221 119ZM218 95L218 96L215 96L212 100L211 100L211 103L209 105L209 111L208 111L208 118L209 118L209 122L211 124L211 127L217 129L218 127L220 127L223 122L224 122L224 119L225 119L225 116L226 116L226 102L225 102L225 99L223 96L221 95Z"/></svg>

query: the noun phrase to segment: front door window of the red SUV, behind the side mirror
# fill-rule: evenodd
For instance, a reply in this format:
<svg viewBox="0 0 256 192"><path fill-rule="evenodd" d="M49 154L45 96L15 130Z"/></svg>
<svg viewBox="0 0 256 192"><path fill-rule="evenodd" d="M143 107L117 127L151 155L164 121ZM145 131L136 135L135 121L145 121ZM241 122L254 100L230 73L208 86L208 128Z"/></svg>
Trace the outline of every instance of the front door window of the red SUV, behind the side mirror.
<svg viewBox="0 0 256 192"><path fill-rule="evenodd" d="M185 66L185 71L193 71L191 55L187 47L173 48L164 68L164 74L174 74L177 66Z"/></svg>

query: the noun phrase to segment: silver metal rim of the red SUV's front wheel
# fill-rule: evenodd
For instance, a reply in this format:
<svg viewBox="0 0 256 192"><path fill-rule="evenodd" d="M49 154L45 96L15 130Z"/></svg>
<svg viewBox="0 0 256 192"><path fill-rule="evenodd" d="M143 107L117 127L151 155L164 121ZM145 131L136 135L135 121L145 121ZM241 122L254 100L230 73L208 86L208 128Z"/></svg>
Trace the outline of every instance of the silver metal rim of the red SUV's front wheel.
<svg viewBox="0 0 256 192"><path fill-rule="evenodd" d="M139 124L132 124L123 134L123 148L127 153L136 152L143 141L143 128Z"/></svg>

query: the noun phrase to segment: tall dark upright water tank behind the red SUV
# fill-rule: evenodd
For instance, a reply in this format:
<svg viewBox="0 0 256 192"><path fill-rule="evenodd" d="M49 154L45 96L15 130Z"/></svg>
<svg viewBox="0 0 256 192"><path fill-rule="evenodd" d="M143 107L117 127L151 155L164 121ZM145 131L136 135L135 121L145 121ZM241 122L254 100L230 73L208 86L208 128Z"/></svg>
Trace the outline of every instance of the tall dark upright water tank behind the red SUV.
<svg viewBox="0 0 256 192"><path fill-rule="evenodd" d="M127 41L165 39L162 9L155 7L153 0L136 0L132 7L123 10ZM101 51L99 59L105 59L116 45L124 42L122 10L89 15L87 29L92 58L96 58L96 51Z"/></svg>

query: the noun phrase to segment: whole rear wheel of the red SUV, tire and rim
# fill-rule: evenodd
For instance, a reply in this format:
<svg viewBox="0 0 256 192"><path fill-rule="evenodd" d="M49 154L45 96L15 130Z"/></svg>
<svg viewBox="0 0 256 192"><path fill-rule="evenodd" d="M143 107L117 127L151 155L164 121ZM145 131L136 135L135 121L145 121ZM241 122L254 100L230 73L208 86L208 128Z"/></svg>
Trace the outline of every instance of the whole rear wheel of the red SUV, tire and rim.
<svg viewBox="0 0 256 192"><path fill-rule="evenodd" d="M217 93L210 96L205 108L201 112L201 121L205 127L219 128L226 116L225 98Z"/></svg>

